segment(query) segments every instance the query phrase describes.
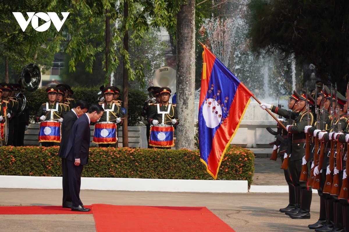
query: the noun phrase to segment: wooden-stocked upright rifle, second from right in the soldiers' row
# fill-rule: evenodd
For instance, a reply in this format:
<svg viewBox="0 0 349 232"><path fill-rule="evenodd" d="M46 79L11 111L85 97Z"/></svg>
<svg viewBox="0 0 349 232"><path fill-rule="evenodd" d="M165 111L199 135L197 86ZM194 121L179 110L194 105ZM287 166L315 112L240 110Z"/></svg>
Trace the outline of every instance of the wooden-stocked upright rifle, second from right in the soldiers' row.
<svg viewBox="0 0 349 232"><path fill-rule="evenodd" d="M337 83L335 84L335 91L337 91ZM337 93L337 92L336 92ZM342 124L340 122L340 111L338 108L338 103L337 103L337 94L336 94L336 114L337 114L337 121L338 121L338 132L337 133L341 133L342 132ZM335 168L339 171L342 170L342 144L340 142L337 142L337 149L336 149L336 153L335 153L335 158L336 158L336 164L335 164ZM340 189L340 177L338 174L333 176L333 184L332 184L332 188L331 188L331 195L339 195L339 192L341 191Z"/></svg>

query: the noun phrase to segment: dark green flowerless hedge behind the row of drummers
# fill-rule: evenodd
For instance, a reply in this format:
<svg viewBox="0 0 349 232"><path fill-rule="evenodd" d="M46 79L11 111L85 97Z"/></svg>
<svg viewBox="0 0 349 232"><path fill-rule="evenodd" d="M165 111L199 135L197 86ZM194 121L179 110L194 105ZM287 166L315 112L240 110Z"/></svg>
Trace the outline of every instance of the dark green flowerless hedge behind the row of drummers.
<svg viewBox="0 0 349 232"><path fill-rule="evenodd" d="M74 88L73 98L77 101L83 99L89 105L98 101L99 88ZM43 88L39 88L34 92L24 92L25 97L29 103L29 115L33 119L39 109L40 105L47 101L47 93ZM143 103L147 100L148 95L138 89L128 89L128 126L137 126L141 121L140 112L143 108ZM119 100L122 101L122 91L119 95ZM33 121L33 120L32 120Z"/></svg>

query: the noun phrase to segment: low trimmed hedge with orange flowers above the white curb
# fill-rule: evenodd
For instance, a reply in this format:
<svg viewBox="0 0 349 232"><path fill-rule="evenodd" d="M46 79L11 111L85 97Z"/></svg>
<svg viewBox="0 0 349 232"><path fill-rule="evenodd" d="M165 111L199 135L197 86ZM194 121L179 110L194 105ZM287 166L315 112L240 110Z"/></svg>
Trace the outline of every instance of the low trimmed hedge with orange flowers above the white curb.
<svg viewBox="0 0 349 232"><path fill-rule="evenodd" d="M61 176L58 146L0 147L0 175ZM200 161L198 150L139 148L90 148L84 177L213 179ZM252 183L254 154L230 146L217 179L247 180Z"/></svg>

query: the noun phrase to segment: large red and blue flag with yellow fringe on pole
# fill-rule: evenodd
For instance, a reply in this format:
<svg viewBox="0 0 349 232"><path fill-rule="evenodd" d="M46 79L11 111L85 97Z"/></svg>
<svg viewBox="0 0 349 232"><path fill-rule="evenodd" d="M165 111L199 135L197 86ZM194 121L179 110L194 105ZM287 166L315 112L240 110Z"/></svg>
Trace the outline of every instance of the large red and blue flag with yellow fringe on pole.
<svg viewBox="0 0 349 232"><path fill-rule="evenodd" d="M206 46L203 48L198 116L200 160L217 179L224 153L253 94Z"/></svg>

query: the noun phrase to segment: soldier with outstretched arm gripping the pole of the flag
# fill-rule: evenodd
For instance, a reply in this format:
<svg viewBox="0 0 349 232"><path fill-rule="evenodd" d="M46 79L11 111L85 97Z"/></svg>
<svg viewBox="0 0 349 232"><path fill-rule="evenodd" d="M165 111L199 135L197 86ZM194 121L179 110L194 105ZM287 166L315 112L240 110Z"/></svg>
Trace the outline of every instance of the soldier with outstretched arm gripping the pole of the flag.
<svg viewBox="0 0 349 232"><path fill-rule="evenodd" d="M305 96L305 94L307 96ZM312 99L308 93L305 94L302 94L301 96L298 95L297 112L279 109L278 107L266 103L262 103L260 105L263 110L270 109L270 111L273 113L277 113L285 118L291 118L294 120L292 125L286 126L288 141L291 143L288 144L288 146L291 145L291 150L288 150L291 152L290 154L288 154L289 152L285 153L285 159L289 159L288 169L290 171L292 184L294 185L296 199L296 207L292 211L288 211L285 214L289 215L293 219L310 218L310 205L312 199L312 191L309 189L309 186L307 186L307 182L299 181L302 171L302 158L305 153L304 145L306 142L303 129L308 125L308 117L310 119L310 125L314 124L313 114L310 112L310 110L306 110L306 104L313 105L315 100ZM306 102L306 98L308 102Z"/></svg>

